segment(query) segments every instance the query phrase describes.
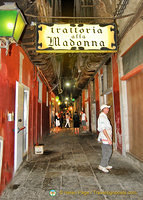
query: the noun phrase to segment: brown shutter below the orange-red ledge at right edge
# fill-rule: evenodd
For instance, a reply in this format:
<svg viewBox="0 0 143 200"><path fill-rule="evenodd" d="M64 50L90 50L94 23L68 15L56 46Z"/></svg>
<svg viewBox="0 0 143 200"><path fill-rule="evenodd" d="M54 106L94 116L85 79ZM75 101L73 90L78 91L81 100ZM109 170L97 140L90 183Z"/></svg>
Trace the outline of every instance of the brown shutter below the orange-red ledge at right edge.
<svg viewBox="0 0 143 200"><path fill-rule="evenodd" d="M143 161L143 72L127 81L129 152Z"/></svg>

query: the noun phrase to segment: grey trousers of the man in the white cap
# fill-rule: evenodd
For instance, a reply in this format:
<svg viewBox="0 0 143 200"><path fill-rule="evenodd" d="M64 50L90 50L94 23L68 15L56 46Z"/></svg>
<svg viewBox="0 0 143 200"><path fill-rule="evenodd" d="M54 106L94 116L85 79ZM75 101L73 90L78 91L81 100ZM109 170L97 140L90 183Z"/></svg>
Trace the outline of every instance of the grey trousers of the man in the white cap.
<svg viewBox="0 0 143 200"><path fill-rule="evenodd" d="M112 145L102 143L101 148L102 148L102 158L100 165L102 167L107 167L112 155Z"/></svg>

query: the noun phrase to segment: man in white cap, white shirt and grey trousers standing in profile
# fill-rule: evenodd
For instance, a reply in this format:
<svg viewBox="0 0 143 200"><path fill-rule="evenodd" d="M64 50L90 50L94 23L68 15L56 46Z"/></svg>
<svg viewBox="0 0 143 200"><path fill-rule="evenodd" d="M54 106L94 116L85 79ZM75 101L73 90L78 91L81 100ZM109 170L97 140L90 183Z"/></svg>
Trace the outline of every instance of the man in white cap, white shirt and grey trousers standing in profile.
<svg viewBox="0 0 143 200"><path fill-rule="evenodd" d="M107 117L109 108L110 106L108 105L102 105L100 107L101 113L98 118L98 141L102 142L102 158L98 169L106 173L109 172L110 169L112 169L112 166L108 165L108 162L112 155L112 126Z"/></svg>

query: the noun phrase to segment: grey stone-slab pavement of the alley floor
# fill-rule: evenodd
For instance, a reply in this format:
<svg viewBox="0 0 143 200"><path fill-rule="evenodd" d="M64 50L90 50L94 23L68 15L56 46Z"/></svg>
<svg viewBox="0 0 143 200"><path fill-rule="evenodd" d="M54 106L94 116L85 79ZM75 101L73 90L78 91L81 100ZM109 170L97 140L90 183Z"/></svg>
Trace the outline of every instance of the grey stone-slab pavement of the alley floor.
<svg viewBox="0 0 143 200"><path fill-rule="evenodd" d="M93 135L62 130L46 138L44 150L22 165L1 200L143 200L143 172L127 158L114 152L110 173L97 169L101 148Z"/></svg>

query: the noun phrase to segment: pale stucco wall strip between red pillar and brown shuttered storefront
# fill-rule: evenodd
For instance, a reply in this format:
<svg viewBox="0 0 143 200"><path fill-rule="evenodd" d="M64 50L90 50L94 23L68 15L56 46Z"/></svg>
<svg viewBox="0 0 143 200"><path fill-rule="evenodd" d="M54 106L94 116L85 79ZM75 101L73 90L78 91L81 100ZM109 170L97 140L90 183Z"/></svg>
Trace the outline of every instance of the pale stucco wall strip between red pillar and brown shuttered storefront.
<svg viewBox="0 0 143 200"><path fill-rule="evenodd" d="M125 24L124 24L125 25ZM134 43L143 37L143 20L137 21L134 26L128 31L124 38L120 42L118 52L118 66L119 66L119 78L123 74L122 55L134 45ZM127 88L126 81L119 81L120 84L120 102L121 102L121 126L122 126L122 149L123 154L129 151L129 129L128 129L128 103L127 103Z"/></svg>

